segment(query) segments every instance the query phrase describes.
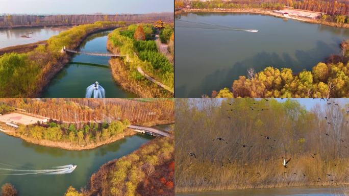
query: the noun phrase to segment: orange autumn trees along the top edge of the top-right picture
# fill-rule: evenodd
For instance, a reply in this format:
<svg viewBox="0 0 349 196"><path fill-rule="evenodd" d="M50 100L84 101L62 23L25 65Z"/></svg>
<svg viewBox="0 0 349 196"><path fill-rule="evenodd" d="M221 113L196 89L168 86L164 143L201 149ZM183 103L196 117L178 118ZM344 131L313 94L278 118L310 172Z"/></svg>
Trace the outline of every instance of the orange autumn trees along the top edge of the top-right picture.
<svg viewBox="0 0 349 196"><path fill-rule="evenodd" d="M214 1L192 1L192 0L176 0L174 3L176 9L194 8L194 9L280 9L284 6L294 9L309 10L314 12L325 13L321 19L325 21L336 21L337 23L349 23L349 4L345 1L338 0L214 0ZM340 17L337 17L340 16ZM344 17L345 21L341 22L340 18Z"/></svg>

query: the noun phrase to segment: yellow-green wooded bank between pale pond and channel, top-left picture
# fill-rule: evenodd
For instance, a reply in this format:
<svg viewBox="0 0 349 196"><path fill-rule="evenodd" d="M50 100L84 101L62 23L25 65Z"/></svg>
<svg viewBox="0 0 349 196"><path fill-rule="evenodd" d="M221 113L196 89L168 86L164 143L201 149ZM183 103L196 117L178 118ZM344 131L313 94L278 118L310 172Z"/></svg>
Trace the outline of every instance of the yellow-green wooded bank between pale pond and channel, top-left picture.
<svg viewBox="0 0 349 196"><path fill-rule="evenodd" d="M69 61L69 55L60 52L64 46L75 49L88 35L115 29L122 24L124 22L83 24L49 38L47 44L40 45L29 53L1 56L0 96L38 97L48 82Z"/></svg>

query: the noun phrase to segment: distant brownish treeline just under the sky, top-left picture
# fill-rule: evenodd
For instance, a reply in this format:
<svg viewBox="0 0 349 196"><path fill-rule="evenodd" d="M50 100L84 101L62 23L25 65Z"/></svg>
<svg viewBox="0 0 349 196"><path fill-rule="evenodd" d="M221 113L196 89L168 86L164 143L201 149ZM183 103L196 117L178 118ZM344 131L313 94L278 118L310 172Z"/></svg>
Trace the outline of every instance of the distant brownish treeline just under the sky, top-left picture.
<svg viewBox="0 0 349 196"><path fill-rule="evenodd" d="M96 21L154 21L173 20L171 13L151 14L93 14L93 15L0 15L0 28L12 26L56 26L94 23Z"/></svg>

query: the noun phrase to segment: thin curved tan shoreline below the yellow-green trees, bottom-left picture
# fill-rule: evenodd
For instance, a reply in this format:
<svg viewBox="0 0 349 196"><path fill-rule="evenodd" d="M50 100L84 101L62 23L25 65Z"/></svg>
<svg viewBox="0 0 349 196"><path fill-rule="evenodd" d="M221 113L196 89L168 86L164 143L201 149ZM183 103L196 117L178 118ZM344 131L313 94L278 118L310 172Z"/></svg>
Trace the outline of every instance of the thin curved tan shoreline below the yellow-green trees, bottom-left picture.
<svg viewBox="0 0 349 196"><path fill-rule="evenodd" d="M161 122L163 122L163 124L160 124ZM152 126L159 126L159 125L168 125L171 123L169 123L168 121L159 121L159 122L150 122L150 124L156 124L156 125L152 125ZM4 134L9 135L9 136L20 138L28 143L46 146L46 147L50 147L50 148L69 150L69 151L91 150L91 149L98 148L99 146L102 146L102 145L113 143L117 140L123 139L124 137L133 136L133 135L138 134L138 132L133 131L130 128L127 128L122 134L119 134L119 135L116 135L112 138L109 138L106 141L82 146L80 144L71 145L69 142L57 142L57 141L51 141L51 140L45 140L45 139L41 139L41 140L37 141L37 140L34 140L33 138L29 138L29 137L17 134L14 129L13 130L12 129L11 130L4 130L4 131L0 130L0 132L3 132Z"/></svg>

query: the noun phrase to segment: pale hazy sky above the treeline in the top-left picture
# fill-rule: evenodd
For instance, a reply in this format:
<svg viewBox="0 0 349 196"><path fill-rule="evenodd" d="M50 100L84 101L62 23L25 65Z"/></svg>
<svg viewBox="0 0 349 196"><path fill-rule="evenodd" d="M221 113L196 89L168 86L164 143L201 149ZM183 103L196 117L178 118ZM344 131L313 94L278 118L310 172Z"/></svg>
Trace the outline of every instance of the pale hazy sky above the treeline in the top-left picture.
<svg viewBox="0 0 349 196"><path fill-rule="evenodd" d="M0 14L173 12L173 0L0 0Z"/></svg>

